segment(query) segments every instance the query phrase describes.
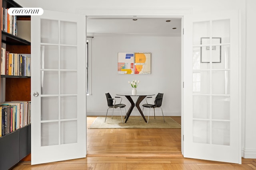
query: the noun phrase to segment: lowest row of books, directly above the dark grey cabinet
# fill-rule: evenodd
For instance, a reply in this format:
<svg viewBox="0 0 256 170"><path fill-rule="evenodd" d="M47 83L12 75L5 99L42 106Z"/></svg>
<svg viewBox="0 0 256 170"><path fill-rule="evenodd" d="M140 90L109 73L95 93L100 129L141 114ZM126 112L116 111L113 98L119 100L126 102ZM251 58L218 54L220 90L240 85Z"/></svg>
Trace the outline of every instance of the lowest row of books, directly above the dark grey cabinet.
<svg viewBox="0 0 256 170"><path fill-rule="evenodd" d="M30 101L0 103L0 137L30 124Z"/></svg>

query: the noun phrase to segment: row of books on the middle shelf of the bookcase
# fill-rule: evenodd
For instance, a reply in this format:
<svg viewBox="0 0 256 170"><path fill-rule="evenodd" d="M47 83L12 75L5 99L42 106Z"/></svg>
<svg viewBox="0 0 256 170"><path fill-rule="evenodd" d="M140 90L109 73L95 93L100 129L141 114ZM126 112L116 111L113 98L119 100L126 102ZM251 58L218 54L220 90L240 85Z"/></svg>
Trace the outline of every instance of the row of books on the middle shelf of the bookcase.
<svg viewBox="0 0 256 170"><path fill-rule="evenodd" d="M1 75L31 76L31 54L17 54L1 48Z"/></svg>

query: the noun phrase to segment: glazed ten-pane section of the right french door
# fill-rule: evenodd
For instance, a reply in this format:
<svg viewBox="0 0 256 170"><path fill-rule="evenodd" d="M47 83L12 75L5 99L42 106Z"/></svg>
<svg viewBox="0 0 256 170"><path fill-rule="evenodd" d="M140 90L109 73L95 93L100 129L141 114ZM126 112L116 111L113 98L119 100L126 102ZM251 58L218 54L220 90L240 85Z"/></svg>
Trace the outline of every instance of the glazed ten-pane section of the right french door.
<svg viewBox="0 0 256 170"><path fill-rule="evenodd" d="M230 144L229 47L230 20L193 23L192 88L195 143Z"/></svg>

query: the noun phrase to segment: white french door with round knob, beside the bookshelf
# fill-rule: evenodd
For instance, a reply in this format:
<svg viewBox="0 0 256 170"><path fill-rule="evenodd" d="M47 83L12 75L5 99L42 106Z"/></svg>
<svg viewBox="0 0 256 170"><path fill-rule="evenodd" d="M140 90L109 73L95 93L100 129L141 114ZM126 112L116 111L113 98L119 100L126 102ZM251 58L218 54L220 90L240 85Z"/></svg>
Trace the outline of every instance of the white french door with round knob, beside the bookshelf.
<svg viewBox="0 0 256 170"><path fill-rule="evenodd" d="M85 16L31 17L31 164L86 157Z"/></svg>

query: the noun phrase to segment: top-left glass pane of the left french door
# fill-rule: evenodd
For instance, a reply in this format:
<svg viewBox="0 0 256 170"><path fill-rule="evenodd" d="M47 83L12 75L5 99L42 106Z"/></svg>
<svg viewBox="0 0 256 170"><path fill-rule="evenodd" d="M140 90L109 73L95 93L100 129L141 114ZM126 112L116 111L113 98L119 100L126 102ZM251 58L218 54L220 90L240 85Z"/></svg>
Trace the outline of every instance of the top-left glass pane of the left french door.
<svg viewBox="0 0 256 170"><path fill-rule="evenodd" d="M41 43L58 43L58 21L41 19Z"/></svg>

